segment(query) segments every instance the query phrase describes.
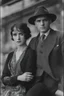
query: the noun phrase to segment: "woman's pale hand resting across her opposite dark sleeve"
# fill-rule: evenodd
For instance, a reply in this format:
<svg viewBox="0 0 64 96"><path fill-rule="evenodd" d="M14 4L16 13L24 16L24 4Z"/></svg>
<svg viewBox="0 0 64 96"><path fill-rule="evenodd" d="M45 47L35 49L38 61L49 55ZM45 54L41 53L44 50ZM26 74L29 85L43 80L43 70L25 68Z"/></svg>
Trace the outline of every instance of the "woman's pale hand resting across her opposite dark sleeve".
<svg viewBox="0 0 64 96"><path fill-rule="evenodd" d="M31 79L33 79L33 75L32 75L31 72L25 72L25 73L23 73L22 75L19 75L19 76L17 77L17 80L26 81L26 82L31 81Z"/></svg>

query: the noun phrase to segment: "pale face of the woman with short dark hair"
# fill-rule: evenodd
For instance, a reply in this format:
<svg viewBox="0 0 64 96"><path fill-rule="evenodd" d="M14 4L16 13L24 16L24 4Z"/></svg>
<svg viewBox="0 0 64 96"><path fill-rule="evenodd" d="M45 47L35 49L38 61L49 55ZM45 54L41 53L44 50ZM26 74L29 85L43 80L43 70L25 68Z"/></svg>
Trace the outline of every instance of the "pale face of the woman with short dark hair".
<svg viewBox="0 0 64 96"><path fill-rule="evenodd" d="M22 46L26 43L25 36L22 32L20 31L13 31L12 32L13 40L18 46Z"/></svg>

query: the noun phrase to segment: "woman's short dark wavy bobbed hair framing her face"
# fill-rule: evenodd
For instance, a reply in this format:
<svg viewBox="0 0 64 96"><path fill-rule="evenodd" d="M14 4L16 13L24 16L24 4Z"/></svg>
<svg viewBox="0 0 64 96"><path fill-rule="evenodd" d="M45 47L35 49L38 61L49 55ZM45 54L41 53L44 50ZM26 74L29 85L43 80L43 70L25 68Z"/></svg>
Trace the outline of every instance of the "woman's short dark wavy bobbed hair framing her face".
<svg viewBox="0 0 64 96"><path fill-rule="evenodd" d="M31 37L31 31L30 31L30 29L29 29L29 27L27 26L26 23L21 23L20 25L14 24L11 27L11 38L12 38L12 40L14 40L12 33L15 30L22 32L24 34L26 40Z"/></svg>

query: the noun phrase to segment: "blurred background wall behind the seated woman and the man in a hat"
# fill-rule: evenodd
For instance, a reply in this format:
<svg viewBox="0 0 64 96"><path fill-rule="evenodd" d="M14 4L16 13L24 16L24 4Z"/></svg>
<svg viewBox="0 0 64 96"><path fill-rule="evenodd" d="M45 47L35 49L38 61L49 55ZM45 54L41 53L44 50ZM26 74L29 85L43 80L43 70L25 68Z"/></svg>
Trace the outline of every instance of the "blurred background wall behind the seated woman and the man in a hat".
<svg viewBox="0 0 64 96"><path fill-rule="evenodd" d="M33 25L28 23L28 18L40 5L47 7L50 12L57 15L57 19L51 24L51 27L63 34L64 0L0 0L0 76L7 54L15 48L10 37L11 26L15 23L26 22L31 30L32 37L36 36L38 32ZM27 44L29 41L27 41Z"/></svg>

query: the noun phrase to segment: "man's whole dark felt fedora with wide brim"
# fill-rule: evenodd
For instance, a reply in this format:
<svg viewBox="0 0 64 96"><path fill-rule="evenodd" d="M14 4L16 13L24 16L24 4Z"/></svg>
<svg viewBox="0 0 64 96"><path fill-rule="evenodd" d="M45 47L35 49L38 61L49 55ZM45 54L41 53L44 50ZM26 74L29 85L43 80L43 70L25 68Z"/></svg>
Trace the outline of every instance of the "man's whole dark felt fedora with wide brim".
<svg viewBox="0 0 64 96"><path fill-rule="evenodd" d="M44 6L40 6L36 8L34 15L28 19L28 22L34 25L36 18L40 16L46 16L50 18L52 22L56 20L55 14L49 13L48 10Z"/></svg>

